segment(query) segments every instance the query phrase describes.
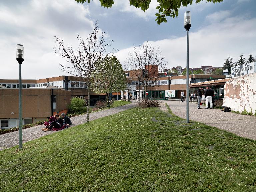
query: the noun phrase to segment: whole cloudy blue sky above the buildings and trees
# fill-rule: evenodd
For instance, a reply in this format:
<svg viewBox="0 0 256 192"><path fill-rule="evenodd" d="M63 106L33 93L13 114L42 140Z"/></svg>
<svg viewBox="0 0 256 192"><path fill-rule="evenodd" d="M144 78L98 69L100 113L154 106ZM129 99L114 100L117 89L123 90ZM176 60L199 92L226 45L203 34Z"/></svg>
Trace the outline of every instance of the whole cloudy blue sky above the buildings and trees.
<svg viewBox="0 0 256 192"><path fill-rule="evenodd" d="M121 63L144 42L159 47L167 60L166 69L186 66L186 30L184 12L191 12L189 30L189 67L223 66L230 56L234 61L241 54L247 59L256 56L256 1L206 0L179 9L179 16L167 23L155 21L157 0L143 12L130 6L129 0L114 0L112 8L101 7L98 0L78 4L74 0L1 0L0 1L0 79L18 79L17 44L24 45L22 79L42 79L67 75L60 64L66 59L57 55L54 36L66 45L78 48L77 33L86 40L98 21L105 32L105 42L113 41L112 49Z"/></svg>

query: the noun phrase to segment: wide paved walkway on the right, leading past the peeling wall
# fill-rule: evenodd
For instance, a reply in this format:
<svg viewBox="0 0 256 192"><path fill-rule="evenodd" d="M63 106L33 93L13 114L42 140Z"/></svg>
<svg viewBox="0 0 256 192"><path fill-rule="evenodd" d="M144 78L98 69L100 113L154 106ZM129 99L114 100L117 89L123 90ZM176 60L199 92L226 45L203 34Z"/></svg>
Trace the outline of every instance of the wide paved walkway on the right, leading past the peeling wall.
<svg viewBox="0 0 256 192"><path fill-rule="evenodd" d="M186 119L186 102L163 101L166 102L171 111ZM197 103L189 103L189 119L205 123L207 125L227 130L241 137L256 140L256 117L241 115L232 112L223 112L220 109L197 109Z"/></svg>

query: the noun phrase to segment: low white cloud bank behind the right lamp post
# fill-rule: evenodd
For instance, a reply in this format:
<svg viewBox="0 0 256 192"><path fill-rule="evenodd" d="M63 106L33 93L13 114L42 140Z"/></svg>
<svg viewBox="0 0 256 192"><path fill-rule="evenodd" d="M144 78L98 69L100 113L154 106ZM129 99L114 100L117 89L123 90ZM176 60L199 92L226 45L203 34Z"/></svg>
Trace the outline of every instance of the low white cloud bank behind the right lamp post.
<svg viewBox="0 0 256 192"><path fill-rule="evenodd" d="M235 61L241 53L247 58L256 53L256 19L241 17L226 18L220 23L211 23L197 32L189 33L189 67L203 65L222 66L230 55ZM185 34L185 32L184 32ZM162 56L168 61L168 67L186 66L186 36L176 39L151 41L153 46L160 47ZM133 47L116 53L123 63Z"/></svg>

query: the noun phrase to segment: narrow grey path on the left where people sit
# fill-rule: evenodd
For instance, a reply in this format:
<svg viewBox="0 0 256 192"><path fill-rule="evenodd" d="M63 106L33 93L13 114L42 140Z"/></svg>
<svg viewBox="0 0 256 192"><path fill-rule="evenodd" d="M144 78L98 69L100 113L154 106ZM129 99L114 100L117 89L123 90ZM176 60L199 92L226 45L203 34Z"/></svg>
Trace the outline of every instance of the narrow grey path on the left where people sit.
<svg viewBox="0 0 256 192"><path fill-rule="evenodd" d="M132 101L131 104L122 105L119 107L105 109L102 111L90 113L89 120L92 121L94 119L98 119L101 117L116 114L121 111L131 109L135 106L137 106L137 102ZM84 122L86 122L86 115L79 115L76 117L71 117L70 119L72 121L72 126L75 126L75 125L83 124ZM41 131L40 129L42 129L43 127L44 127L44 125L38 125L35 127L23 129L23 132L22 132L23 143L57 132L57 131L47 131L47 132ZM18 144L19 144L19 131L14 131L11 133L6 133L3 135L0 135L0 151L3 149L7 149L10 147L16 146Z"/></svg>

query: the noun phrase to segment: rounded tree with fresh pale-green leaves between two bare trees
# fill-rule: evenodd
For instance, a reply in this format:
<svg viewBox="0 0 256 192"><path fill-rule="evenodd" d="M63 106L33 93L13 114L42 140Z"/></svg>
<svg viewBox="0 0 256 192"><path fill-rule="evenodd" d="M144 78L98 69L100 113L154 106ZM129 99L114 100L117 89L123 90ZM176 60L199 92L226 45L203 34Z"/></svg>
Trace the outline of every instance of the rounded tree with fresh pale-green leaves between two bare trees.
<svg viewBox="0 0 256 192"><path fill-rule="evenodd" d="M109 93L126 88L126 76L119 60L111 55L100 59L92 73L91 88L96 93L106 93L109 107Z"/></svg>

